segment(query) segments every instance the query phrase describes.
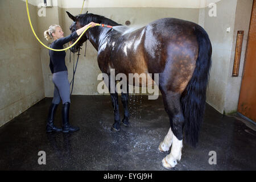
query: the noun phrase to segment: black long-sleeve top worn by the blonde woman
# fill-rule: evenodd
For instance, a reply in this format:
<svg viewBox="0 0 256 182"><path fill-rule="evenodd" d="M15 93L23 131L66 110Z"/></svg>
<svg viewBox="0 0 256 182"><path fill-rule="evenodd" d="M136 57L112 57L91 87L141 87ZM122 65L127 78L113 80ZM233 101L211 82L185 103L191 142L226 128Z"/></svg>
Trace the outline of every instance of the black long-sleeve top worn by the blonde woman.
<svg viewBox="0 0 256 182"><path fill-rule="evenodd" d="M53 49L63 49L63 45L65 43L70 42L71 40L77 38L79 35L77 35L76 31L70 34L69 36L66 36L65 38L60 38L55 40L53 43L50 44L49 47ZM52 51L49 50L49 56L50 56L50 63L49 67L51 69L52 73L61 72L61 71L67 71L67 67L65 65L65 51Z"/></svg>

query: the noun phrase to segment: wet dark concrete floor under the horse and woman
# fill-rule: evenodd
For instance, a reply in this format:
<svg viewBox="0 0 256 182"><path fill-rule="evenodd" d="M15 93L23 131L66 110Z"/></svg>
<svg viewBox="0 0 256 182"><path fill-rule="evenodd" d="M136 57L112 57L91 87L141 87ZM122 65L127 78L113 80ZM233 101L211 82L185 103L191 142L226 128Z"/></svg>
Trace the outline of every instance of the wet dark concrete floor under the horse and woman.
<svg viewBox="0 0 256 182"><path fill-rule="evenodd" d="M72 96L70 121L80 131L46 133L51 98L44 98L0 127L0 170L166 170L158 151L170 127L162 97L130 97L130 126L110 131L110 96ZM119 97L120 115L123 109ZM61 106L55 116L61 126ZM250 127L248 127L250 126ZM46 165L38 152L46 152ZM210 165L210 151L217 164ZM238 115L222 115L207 105L196 148L183 143L181 161L172 170L256 170L255 125Z"/></svg>

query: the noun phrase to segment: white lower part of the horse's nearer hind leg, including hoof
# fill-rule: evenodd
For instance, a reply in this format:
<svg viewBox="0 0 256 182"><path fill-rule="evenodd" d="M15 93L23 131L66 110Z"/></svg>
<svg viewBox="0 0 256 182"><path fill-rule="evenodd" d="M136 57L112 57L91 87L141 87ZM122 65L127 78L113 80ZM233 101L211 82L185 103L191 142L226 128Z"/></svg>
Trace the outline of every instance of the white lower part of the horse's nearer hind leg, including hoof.
<svg viewBox="0 0 256 182"><path fill-rule="evenodd" d="M165 168L175 167L177 160L181 159L182 140L178 140L175 135L173 136L171 153L162 160L163 167Z"/></svg>

